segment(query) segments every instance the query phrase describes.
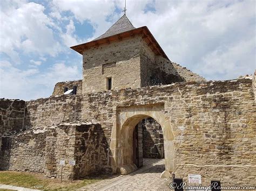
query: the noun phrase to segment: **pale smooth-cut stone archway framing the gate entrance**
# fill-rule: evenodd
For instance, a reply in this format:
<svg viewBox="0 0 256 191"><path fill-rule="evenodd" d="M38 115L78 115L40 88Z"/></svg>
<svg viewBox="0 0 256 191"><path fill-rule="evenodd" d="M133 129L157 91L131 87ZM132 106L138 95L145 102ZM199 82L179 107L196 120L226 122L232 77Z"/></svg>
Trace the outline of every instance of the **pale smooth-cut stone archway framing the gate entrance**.
<svg viewBox="0 0 256 191"><path fill-rule="evenodd" d="M114 172L129 174L137 169L133 164L132 133L138 122L146 117L155 119L163 129L165 171L161 176L169 177L174 169L174 135L170 117L164 115L164 104L136 105L117 108L117 121L111 134L110 149Z"/></svg>

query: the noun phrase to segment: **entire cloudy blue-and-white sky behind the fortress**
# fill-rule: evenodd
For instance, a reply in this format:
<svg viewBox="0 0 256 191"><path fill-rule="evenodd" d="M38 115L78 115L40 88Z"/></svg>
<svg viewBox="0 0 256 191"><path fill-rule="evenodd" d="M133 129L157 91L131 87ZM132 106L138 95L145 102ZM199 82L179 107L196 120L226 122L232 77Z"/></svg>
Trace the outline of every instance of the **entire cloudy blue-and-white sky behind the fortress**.
<svg viewBox="0 0 256 191"><path fill-rule="evenodd" d="M70 46L104 33L124 0L1 0L0 98L51 95L56 82L82 79ZM127 0L127 17L147 26L169 58L206 77L235 79L255 66L256 1Z"/></svg>

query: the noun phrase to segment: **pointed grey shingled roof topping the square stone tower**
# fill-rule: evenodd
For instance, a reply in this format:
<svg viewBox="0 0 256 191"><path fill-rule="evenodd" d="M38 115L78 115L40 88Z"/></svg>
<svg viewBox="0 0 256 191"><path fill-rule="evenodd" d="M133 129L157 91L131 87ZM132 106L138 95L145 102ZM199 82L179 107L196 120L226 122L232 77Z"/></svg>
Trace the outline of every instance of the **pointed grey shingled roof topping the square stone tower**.
<svg viewBox="0 0 256 191"><path fill-rule="evenodd" d="M114 23L109 30L107 30L104 34L102 34L101 36L99 36L98 38L94 39L94 40L98 40L98 39L102 39L105 37L110 37L113 36L115 34L119 34L122 32L126 32L126 31L130 31L136 29L130 22L130 20L126 17L126 15L123 15L121 18L119 18L117 20L116 23Z"/></svg>

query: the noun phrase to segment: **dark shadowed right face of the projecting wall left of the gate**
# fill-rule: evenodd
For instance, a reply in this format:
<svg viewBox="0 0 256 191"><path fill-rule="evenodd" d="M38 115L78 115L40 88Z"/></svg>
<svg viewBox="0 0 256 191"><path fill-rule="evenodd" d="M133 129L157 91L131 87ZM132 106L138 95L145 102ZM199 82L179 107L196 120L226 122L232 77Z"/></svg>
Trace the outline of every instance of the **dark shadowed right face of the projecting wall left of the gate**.
<svg viewBox="0 0 256 191"><path fill-rule="evenodd" d="M100 124L77 126L75 178L112 173L109 152L109 144Z"/></svg>

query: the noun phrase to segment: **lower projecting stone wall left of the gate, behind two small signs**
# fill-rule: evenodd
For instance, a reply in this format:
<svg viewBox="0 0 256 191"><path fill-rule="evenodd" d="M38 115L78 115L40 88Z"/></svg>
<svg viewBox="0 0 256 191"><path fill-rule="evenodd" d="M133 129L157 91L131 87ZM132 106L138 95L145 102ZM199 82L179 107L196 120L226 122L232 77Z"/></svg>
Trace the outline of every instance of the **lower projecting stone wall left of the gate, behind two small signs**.
<svg viewBox="0 0 256 191"><path fill-rule="evenodd" d="M44 172L60 178L60 160L63 179L77 179L90 174L111 173L103 130L99 124L65 123L57 126L33 128L3 137L0 151L0 169ZM76 166L69 165L76 160Z"/></svg>

